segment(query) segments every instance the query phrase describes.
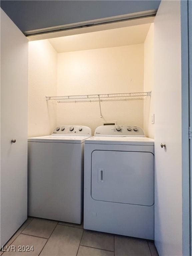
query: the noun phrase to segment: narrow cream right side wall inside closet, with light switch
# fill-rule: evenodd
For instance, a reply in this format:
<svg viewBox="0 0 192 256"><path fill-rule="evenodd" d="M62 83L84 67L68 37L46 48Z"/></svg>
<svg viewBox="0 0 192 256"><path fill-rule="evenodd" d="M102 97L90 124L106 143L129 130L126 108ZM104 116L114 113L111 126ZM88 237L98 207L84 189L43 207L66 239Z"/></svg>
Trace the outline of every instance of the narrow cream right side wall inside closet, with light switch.
<svg viewBox="0 0 192 256"><path fill-rule="evenodd" d="M154 124L151 116L154 114L153 103L154 88L154 24L152 23L144 42L144 88L145 92L152 91L151 97L143 102L143 128L145 136L154 138Z"/></svg>

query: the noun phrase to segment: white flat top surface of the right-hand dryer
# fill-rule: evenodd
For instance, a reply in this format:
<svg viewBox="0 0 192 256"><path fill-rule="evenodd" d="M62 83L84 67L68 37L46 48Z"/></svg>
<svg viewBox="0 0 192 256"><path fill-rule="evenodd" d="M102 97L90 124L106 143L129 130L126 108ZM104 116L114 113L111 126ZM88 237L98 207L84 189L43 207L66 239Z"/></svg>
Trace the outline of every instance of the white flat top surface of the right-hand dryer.
<svg viewBox="0 0 192 256"><path fill-rule="evenodd" d="M93 136L86 139L85 143L154 146L154 139L147 137Z"/></svg>

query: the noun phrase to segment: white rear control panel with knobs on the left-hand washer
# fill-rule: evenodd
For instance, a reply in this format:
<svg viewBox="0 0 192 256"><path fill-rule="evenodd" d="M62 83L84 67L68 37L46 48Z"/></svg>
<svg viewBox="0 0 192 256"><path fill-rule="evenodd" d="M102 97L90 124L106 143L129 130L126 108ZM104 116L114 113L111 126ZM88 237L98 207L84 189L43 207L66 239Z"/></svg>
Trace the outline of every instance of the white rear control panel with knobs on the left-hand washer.
<svg viewBox="0 0 192 256"><path fill-rule="evenodd" d="M91 136L91 129L83 125L61 125L53 130L52 135Z"/></svg>

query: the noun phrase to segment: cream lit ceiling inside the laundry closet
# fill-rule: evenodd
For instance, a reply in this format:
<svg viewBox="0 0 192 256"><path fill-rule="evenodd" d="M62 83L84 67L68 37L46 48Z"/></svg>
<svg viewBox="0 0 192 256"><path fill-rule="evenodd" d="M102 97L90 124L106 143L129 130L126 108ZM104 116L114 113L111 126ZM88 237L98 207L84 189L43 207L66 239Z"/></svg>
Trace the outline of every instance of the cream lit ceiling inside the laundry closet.
<svg viewBox="0 0 192 256"><path fill-rule="evenodd" d="M48 39L56 52L82 51L144 43L150 24Z"/></svg>

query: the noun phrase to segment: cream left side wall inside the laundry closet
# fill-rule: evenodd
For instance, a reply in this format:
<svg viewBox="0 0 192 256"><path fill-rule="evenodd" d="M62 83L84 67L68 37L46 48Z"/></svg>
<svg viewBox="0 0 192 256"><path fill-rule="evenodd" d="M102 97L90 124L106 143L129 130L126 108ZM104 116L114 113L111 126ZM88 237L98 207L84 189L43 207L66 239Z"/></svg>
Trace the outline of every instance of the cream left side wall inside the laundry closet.
<svg viewBox="0 0 192 256"><path fill-rule="evenodd" d="M28 137L51 134L56 126L57 53L48 40L29 42Z"/></svg>

